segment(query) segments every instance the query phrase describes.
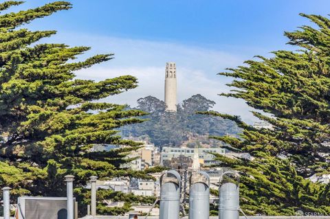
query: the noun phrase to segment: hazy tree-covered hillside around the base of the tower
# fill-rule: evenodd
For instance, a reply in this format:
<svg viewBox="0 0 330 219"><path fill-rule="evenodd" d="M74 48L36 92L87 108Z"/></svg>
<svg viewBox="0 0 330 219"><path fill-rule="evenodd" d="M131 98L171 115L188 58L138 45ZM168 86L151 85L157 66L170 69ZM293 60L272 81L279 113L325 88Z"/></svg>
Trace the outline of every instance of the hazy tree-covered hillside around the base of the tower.
<svg viewBox="0 0 330 219"><path fill-rule="evenodd" d="M141 117L142 124L132 124L120 128L124 137L148 135L156 146L181 146L189 138L210 141L209 136L234 135L239 132L236 124L221 117L199 115L198 111L208 111L215 102L200 94L177 105L177 113L166 111L166 104L156 97L148 96L137 100L137 110L149 113Z"/></svg>

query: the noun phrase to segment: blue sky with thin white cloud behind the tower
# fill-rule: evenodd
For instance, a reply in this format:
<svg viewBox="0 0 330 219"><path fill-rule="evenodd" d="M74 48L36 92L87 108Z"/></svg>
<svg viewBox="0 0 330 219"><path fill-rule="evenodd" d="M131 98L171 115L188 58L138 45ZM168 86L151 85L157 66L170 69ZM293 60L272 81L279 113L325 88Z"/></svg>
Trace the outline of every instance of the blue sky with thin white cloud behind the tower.
<svg viewBox="0 0 330 219"><path fill-rule="evenodd" d="M16 10L50 1L27 0ZM78 71L79 78L102 80L136 76L137 89L105 101L135 105L139 97L164 98L164 68L177 62L179 101L201 93L217 102L214 110L253 122L241 100L219 97L230 78L217 76L254 55L270 56L285 45L283 32L310 25L300 12L330 13L329 0L73 0L73 9L28 25L32 30L58 30L43 42L88 45L85 56L114 53L107 63Z"/></svg>

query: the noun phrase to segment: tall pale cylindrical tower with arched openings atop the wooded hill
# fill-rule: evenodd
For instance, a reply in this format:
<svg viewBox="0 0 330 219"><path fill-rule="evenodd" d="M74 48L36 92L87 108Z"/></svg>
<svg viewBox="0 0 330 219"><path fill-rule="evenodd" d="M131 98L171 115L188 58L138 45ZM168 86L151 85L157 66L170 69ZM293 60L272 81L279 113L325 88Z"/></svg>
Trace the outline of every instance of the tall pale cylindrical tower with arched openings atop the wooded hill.
<svg viewBox="0 0 330 219"><path fill-rule="evenodd" d="M166 111L177 111L177 67L175 62L167 62L165 69Z"/></svg>

